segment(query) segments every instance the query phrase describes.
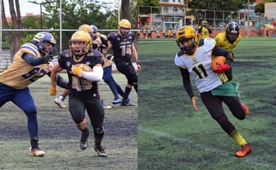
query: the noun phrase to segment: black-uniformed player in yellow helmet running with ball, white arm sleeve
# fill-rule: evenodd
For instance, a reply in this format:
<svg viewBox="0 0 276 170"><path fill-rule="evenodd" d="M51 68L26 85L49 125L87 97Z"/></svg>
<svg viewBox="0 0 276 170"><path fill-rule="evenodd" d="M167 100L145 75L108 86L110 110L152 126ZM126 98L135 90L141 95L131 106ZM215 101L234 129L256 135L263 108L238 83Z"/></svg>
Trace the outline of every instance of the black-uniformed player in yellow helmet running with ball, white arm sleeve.
<svg viewBox="0 0 276 170"><path fill-rule="evenodd" d="M69 112L76 127L82 132L79 146L86 149L88 145L87 111L94 132L94 150L99 157L107 157L102 146L105 113L98 94L98 81L103 77L103 55L97 50L91 52L91 46L91 35L86 31L78 30L71 35L70 49L60 54L58 63L52 68L50 91L56 91L57 72L66 69L69 77ZM93 72L85 71L83 64L91 67Z"/></svg>

